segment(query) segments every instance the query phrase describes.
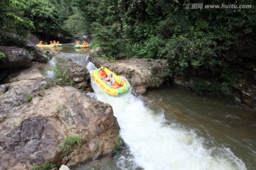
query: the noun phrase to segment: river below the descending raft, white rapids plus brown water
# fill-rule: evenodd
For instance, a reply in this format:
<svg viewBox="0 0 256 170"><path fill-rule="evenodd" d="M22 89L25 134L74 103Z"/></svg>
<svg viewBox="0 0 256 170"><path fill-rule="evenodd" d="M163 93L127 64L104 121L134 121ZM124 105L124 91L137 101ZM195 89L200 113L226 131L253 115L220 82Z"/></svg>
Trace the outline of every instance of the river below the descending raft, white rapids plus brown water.
<svg viewBox="0 0 256 170"><path fill-rule="evenodd" d="M92 88L92 96L112 106L127 147L75 170L256 169L256 123L245 108L179 86L119 97L94 81Z"/></svg>

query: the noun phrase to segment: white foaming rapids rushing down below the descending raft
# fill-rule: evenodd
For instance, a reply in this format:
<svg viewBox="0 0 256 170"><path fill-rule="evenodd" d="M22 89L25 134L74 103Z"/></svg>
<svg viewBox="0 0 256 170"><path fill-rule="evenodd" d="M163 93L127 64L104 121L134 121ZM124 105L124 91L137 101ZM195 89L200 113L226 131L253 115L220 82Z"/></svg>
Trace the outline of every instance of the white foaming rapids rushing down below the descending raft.
<svg viewBox="0 0 256 170"><path fill-rule="evenodd" d="M110 96L92 81L97 99L110 103L121 128L120 135L143 169L246 169L230 149L208 148L203 137L179 125L166 125L132 94Z"/></svg>

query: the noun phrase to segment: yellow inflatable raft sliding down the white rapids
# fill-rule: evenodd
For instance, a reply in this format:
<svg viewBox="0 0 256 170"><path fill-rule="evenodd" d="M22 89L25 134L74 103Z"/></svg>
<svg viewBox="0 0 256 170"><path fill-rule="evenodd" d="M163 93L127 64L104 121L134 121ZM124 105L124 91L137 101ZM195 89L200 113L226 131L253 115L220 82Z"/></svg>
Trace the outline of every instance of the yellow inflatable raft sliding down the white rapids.
<svg viewBox="0 0 256 170"><path fill-rule="evenodd" d="M105 69L105 72L107 74L112 74L115 81L123 81L124 84L119 87L119 88L111 88L105 81L103 81L100 78L100 74L99 74L99 70L101 68ZM107 93L110 94L112 96L120 96L122 94L125 94L129 91L129 85L127 84L126 81L124 81L122 78L118 77L117 74L114 74L113 72L111 72L109 69L105 68L105 67L100 67L100 69L94 69L92 71L92 79L100 85L100 87Z"/></svg>

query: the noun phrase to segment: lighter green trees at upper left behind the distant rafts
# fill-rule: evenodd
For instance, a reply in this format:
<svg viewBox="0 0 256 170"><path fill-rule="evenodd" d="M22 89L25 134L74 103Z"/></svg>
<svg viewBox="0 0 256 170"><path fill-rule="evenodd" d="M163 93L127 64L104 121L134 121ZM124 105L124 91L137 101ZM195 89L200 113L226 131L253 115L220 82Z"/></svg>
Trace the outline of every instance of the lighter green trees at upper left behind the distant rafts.
<svg viewBox="0 0 256 170"><path fill-rule="evenodd" d="M15 33L26 38L33 33L49 43L53 38L85 32L75 0L3 0L0 6L1 34Z"/></svg>

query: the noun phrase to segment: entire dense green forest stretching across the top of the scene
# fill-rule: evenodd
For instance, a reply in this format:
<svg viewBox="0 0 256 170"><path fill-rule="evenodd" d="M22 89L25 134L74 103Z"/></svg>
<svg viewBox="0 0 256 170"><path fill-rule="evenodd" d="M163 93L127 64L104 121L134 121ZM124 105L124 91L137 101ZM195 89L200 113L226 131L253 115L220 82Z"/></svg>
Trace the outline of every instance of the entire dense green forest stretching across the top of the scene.
<svg viewBox="0 0 256 170"><path fill-rule="evenodd" d="M201 8L188 8L202 4ZM237 4L250 8L205 8ZM193 89L232 93L238 65L255 63L255 1L2 0L1 34L29 34L48 41L90 35L107 60L167 59L169 76L201 77ZM0 35L1 36L1 35ZM5 45L7 42L1 42Z"/></svg>

